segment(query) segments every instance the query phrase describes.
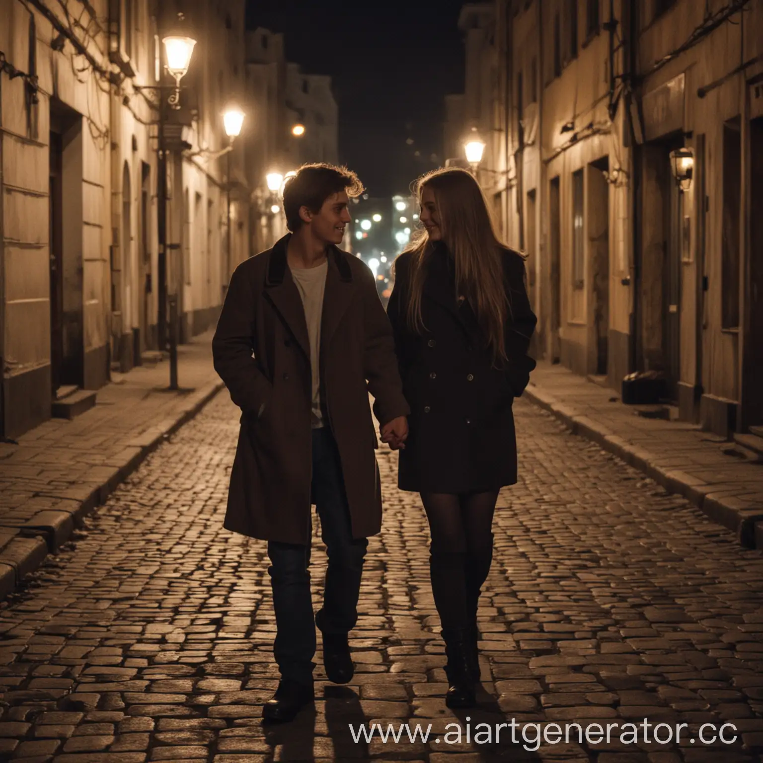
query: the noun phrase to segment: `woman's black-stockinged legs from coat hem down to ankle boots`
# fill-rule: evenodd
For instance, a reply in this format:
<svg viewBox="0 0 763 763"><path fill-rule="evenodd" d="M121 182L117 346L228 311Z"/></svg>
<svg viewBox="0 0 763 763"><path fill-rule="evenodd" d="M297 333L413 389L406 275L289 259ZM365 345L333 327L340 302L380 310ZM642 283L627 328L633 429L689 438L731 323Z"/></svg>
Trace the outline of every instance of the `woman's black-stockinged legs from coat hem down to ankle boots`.
<svg viewBox="0 0 763 763"><path fill-rule="evenodd" d="M476 628L482 584L493 559L498 491L422 493L432 544L432 594L443 631Z"/></svg>

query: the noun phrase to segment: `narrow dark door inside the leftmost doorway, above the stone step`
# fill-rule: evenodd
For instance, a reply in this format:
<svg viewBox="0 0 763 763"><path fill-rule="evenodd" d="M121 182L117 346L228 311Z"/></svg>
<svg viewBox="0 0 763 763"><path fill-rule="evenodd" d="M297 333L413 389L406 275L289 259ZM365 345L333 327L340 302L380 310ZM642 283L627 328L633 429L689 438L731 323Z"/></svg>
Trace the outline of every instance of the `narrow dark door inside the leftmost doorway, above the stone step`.
<svg viewBox="0 0 763 763"><path fill-rule="evenodd" d="M62 140L60 133L50 133L50 380L53 397L62 383L63 365L63 217Z"/></svg>

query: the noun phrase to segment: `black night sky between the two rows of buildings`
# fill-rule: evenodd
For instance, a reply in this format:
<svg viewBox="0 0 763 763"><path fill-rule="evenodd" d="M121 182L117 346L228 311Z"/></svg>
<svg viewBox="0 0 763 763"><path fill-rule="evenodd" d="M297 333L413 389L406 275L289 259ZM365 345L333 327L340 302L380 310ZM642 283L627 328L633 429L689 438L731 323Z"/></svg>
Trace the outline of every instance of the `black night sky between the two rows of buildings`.
<svg viewBox="0 0 763 763"><path fill-rule="evenodd" d="M463 92L462 5L248 0L246 26L283 32L288 60L332 76L340 161L370 195L389 196L443 163L443 96Z"/></svg>

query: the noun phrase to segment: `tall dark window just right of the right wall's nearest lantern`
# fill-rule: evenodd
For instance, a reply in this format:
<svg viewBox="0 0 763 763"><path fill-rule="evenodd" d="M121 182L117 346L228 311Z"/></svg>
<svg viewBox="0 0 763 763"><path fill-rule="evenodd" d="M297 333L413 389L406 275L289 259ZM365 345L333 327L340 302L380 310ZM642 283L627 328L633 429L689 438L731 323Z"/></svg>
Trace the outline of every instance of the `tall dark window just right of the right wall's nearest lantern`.
<svg viewBox="0 0 763 763"><path fill-rule="evenodd" d="M722 328L739 327L739 210L742 204L742 140L739 117L723 125Z"/></svg>

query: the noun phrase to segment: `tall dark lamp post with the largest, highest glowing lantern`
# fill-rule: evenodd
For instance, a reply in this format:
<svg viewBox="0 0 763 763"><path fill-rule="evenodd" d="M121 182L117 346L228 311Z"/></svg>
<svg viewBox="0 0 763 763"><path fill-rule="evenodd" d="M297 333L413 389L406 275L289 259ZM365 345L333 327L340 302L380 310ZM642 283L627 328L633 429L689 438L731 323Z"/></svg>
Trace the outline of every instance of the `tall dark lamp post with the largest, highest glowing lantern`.
<svg viewBox="0 0 763 763"><path fill-rule="evenodd" d="M177 357L177 295L167 294L167 146L165 140L165 124L167 107L177 110L180 108L180 80L188 71L191 56L196 44L192 37L169 35L162 40L166 56L166 71L175 79L175 85L170 86L172 92L164 97L168 87L159 85L159 147L158 172L159 188L156 208L156 227L159 238L158 281L159 281L159 310L156 316L159 332L159 349L167 346L167 308L169 307L171 326L169 331L169 388L178 389L178 357ZM169 304L168 304L169 303Z"/></svg>

